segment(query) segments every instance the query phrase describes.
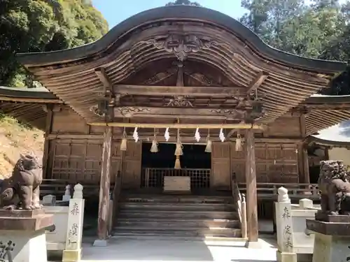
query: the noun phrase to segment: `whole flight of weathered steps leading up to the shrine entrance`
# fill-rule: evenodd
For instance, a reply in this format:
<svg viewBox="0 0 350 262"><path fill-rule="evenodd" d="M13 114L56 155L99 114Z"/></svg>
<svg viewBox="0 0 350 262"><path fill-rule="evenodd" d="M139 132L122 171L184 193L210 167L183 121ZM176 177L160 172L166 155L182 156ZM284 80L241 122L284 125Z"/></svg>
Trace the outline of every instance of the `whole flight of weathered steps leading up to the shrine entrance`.
<svg viewBox="0 0 350 262"><path fill-rule="evenodd" d="M113 238L241 240L232 202L225 196L123 196Z"/></svg>

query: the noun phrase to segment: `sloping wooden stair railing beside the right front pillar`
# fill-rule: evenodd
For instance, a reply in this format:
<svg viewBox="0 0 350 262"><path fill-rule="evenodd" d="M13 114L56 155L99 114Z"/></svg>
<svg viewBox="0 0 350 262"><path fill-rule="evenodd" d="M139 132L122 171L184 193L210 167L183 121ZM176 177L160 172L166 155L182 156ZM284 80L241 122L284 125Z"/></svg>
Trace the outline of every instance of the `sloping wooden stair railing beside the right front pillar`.
<svg viewBox="0 0 350 262"><path fill-rule="evenodd" d="M241 223L241 237L248 237L248 229L247 229L247 220L246 220L246 197L244 194L239 192L239 188L237 185L236 174L233 173L231 177L231 189L232 189L232 197L236 203L239 221Z"/></svg>

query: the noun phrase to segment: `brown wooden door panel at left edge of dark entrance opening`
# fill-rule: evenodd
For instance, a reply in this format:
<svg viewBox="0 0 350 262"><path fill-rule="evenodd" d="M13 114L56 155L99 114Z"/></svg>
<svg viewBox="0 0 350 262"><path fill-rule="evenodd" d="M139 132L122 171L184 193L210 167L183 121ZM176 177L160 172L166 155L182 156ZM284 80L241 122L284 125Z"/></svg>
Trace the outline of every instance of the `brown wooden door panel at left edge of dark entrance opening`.
<svg viewBox="0 0 350 262"><path fill-rule="evenodd" d="M123 166L123 188L139 189L141 186L142 143L127 142Z"/></svg>

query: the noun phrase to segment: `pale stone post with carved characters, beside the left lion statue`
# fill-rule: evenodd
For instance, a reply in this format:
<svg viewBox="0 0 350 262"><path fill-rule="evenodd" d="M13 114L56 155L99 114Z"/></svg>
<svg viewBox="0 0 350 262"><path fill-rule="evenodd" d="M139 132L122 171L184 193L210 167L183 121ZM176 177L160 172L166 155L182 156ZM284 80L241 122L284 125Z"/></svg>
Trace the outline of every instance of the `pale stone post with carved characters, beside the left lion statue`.
<svg viewBox="0 0 350 262"><path fill-rule="evenodd" d="M66 248L63 251L62 262L76 262L81 259L84 206L83 186L76 184L73 198L69 201Z"/></svg>

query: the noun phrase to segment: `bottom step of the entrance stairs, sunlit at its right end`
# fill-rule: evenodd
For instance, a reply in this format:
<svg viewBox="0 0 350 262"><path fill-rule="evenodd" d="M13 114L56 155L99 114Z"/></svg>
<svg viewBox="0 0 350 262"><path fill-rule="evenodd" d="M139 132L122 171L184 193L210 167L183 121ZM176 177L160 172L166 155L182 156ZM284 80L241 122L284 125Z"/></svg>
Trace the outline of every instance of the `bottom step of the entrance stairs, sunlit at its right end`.
<svg viewBox="0 0 350 262"><path fill-rule="evenodd" d="M169 228L147 229L147 228L115 228L114 237L120 235L148 235L148 236L179 236L179 237L219 237L240 238L241 230L237 228Z"/></svg>

